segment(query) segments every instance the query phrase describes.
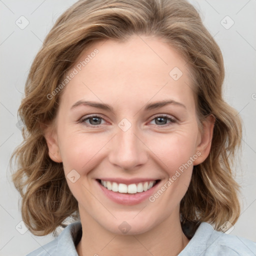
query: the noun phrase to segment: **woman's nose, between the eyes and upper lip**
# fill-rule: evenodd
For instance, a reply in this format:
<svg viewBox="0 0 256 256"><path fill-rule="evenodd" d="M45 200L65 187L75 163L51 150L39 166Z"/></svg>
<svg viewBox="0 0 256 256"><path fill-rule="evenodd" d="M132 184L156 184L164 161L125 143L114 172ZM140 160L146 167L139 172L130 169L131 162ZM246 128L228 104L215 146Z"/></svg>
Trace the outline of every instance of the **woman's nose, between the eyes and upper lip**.
<svg viewBox="0 0 256 256"><path fill-rule="evenodd" d="M141 167L148 157L147 147L136 128L133 128L134 126L132 125L126 131L116 127L117 133L111 140L108 154L109 162L125 170Z"/></svg>

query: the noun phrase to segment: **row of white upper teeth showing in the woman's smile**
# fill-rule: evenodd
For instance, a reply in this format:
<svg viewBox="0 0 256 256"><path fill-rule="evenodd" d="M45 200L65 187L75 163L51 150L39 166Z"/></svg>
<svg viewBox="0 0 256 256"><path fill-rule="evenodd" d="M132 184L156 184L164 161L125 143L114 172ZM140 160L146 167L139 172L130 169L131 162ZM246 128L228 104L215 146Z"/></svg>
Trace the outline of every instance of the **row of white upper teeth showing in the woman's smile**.
<svg viewBox="0 0 256 256"><path fill-rule="evenodd" d="M146 191L150 189L155 184L155 182L156 181L154 180L149 182L146 181L146 182L139 182L137 184L133 183L133 184L126 185L123 183L117 184L116 182L100 180L101 185L103 185L108 190L112 190L114 192L119 192L119 193L130 193L130 194Z"/></svg>

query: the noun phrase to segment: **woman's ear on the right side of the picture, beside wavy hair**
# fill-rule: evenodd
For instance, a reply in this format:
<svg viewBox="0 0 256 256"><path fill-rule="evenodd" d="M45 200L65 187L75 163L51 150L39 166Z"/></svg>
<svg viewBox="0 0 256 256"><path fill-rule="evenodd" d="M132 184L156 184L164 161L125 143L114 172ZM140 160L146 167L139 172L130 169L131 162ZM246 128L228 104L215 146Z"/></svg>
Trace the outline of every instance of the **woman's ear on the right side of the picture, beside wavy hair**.
<svg viewBox="0 0 256 256"><path fill-rule="evenodd" d="M214 123L215 117L213 114L209 114L202 122L202 131L199 131L196 146L196 154L200 153L200 155L194 160L193 165L202 163L209 155Z"/></svg>

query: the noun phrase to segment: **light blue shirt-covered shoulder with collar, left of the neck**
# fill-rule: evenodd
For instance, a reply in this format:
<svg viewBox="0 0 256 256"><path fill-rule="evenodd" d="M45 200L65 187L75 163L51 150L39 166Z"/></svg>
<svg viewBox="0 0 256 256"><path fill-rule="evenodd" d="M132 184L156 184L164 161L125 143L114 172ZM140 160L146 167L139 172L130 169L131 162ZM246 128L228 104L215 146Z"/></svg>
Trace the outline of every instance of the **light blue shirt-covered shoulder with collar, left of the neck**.
<svg viewBox="0 0 256 256"><path fill-rule="evenodd" d="M76 256L75 239L81 230L81 222L77 221L67 225L54 240L42 245L26 256Z"/></svg>

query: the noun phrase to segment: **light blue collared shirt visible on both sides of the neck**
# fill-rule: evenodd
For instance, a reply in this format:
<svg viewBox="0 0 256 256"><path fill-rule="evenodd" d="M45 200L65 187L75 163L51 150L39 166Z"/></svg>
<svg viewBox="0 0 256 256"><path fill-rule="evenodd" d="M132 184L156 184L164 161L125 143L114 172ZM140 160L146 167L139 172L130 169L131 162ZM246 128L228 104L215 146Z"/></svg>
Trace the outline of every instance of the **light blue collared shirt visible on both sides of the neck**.
<svg viewBox="0 0 256 256"><path fill-rule="evenodd" d="M75 239L81 223L74 222L64 228L53 241L30 252L27 256L78 256ZM100 251L95 251L100 255ZM202 222L178 256L255 256L256 243L236 235L216 231Z"/></svg>

